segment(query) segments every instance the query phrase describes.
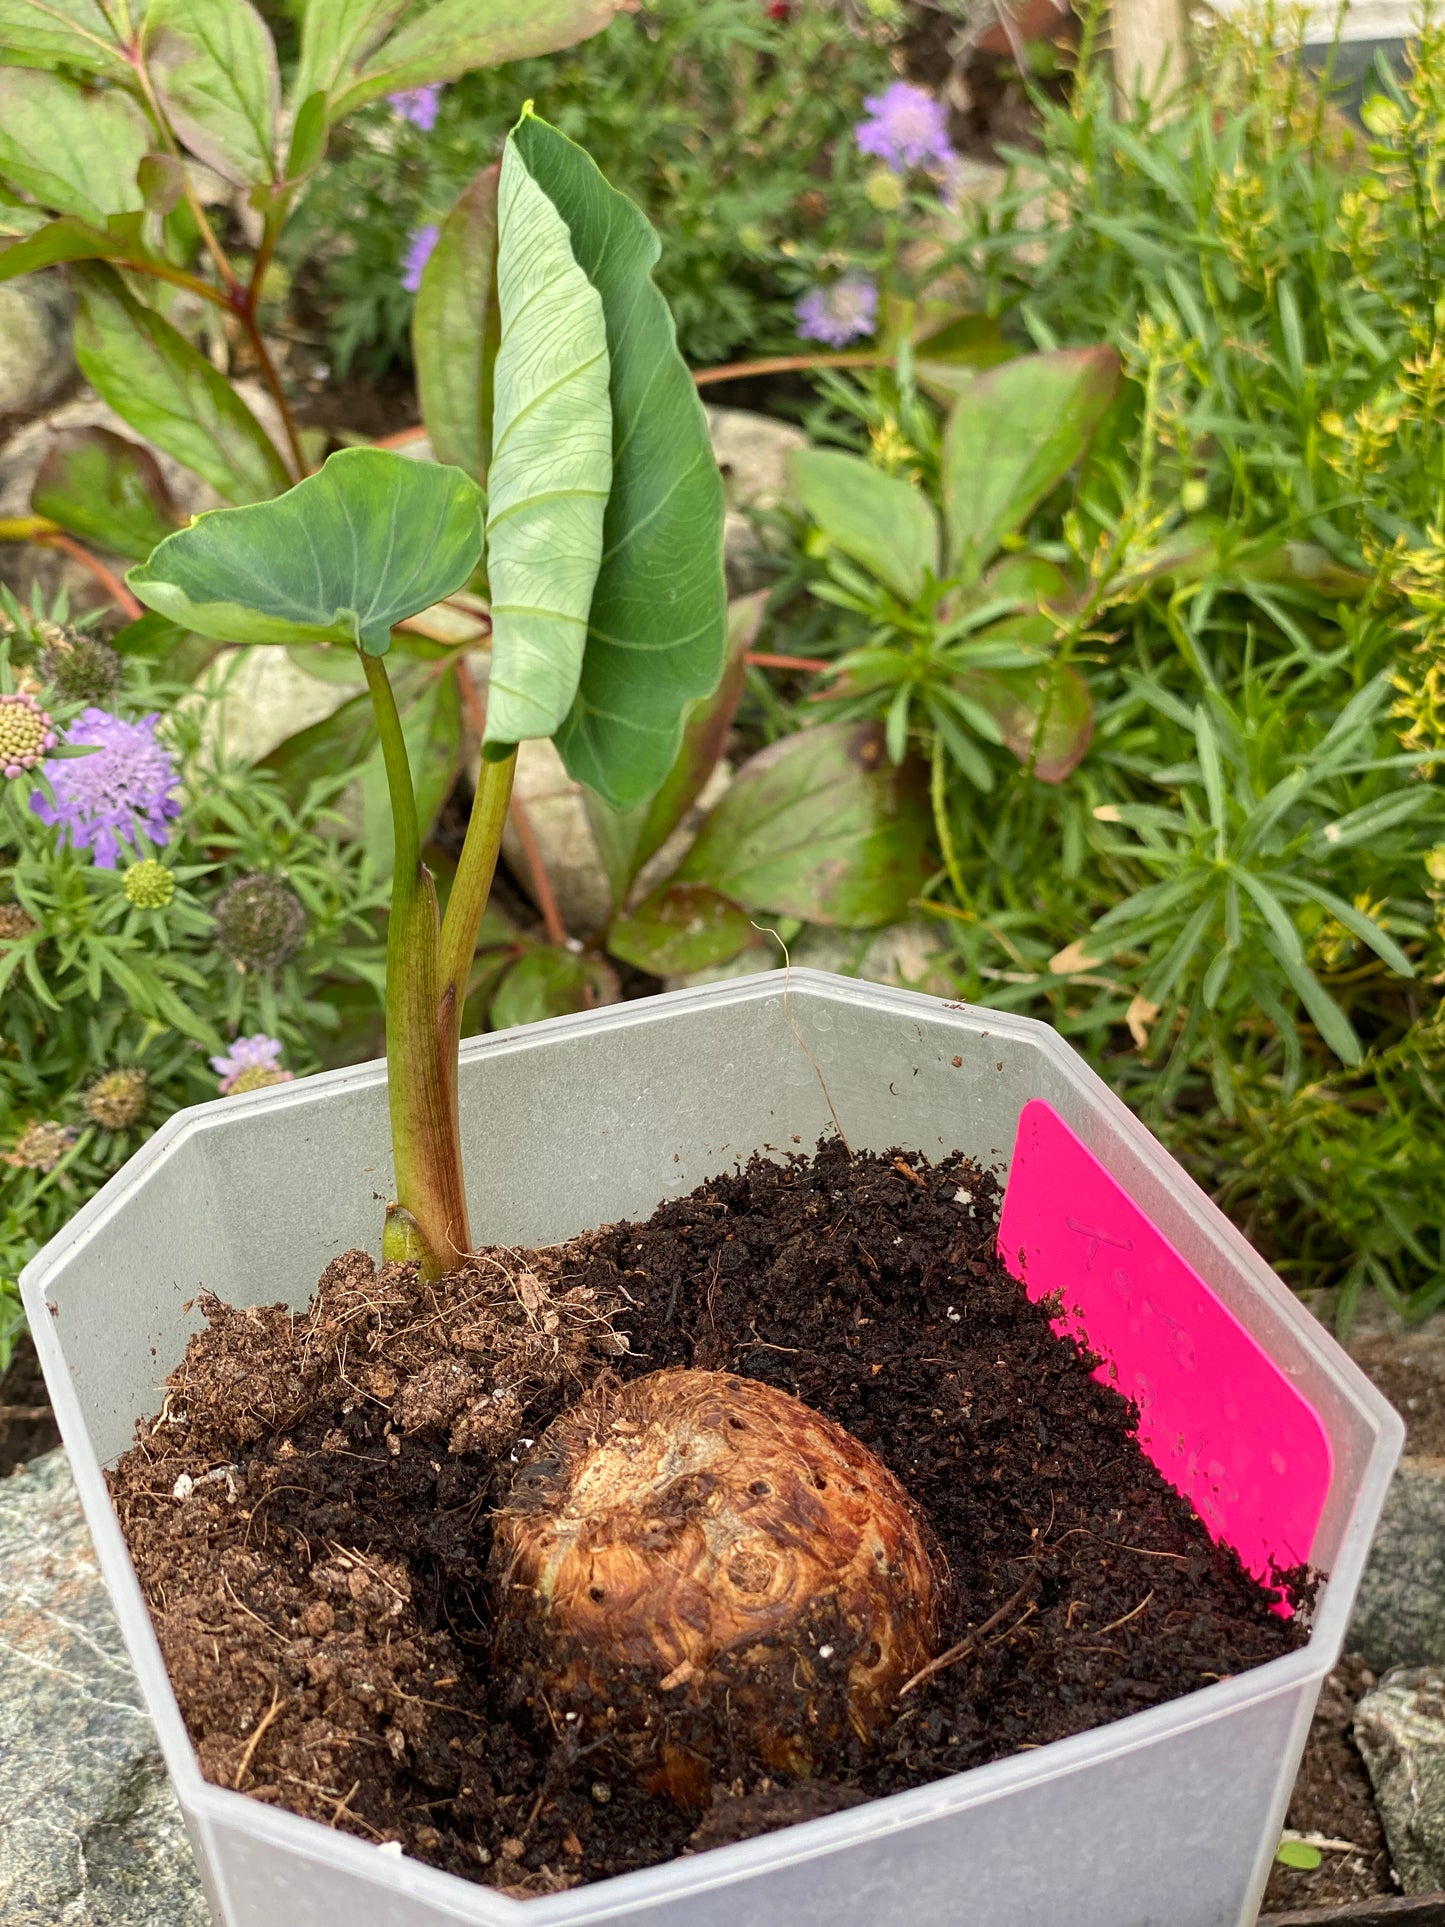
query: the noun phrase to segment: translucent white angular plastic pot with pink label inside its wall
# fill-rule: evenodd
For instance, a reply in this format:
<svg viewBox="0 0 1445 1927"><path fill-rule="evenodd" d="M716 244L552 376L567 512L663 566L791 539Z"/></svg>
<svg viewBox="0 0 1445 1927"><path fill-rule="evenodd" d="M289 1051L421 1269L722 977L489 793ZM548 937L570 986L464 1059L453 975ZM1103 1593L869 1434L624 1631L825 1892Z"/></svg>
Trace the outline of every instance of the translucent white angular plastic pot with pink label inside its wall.
<svg viewBox="0 0 1445 1927"><path fill-rule="evenodd" d="M391 1168L381 1064L204 1104L171 1118L75 1216L27 1268L23 1291L216 1919L1252 1921L1403 1428L1079 1056L1021 1017L794 971L786 998L782 973L771 973L476 1039L462 1046L460 1104L474 1224L486 1241L511 1245L644 1218L753 1150L811 1147L830 1106L854 1147L1012 1158L1006 1231L1029 1247L1025 1270L1035 1256L1050 1274L1029 1276L1029 1289L1060 1285L1065 1303L1077 1299L1090 1343L1114 1357L1146 1411L1150 1453L1206 1518L1214 1507L1216 1526L1239 1526L1241 1549L1260 1517L1268 1536L1270 1509L1289 1511L1304 1491L1304 1524L1295 1517L1281 1528L1281 1549L1308 1553L1329 1578L1308 1644L1250 1673L846 1813L536 1900L509 1900L212 1786L102 1466L158 1409L197 1326L185 1303L208 1287L235 1305L304 1305L329 1258L376 1247ZM1038 1129L1025 1145L1031 1120ZM1017 1268L1017 1254L1010 1262ZM1281 1443L1308 1465L1299 1484L1285 1478L1260 1499L1260 1478L1268 1486L1279 1466L1262 1472L1258 1453L1283 1461ZM1287 1544L1300 1530L1312 1542Z"/></svg>

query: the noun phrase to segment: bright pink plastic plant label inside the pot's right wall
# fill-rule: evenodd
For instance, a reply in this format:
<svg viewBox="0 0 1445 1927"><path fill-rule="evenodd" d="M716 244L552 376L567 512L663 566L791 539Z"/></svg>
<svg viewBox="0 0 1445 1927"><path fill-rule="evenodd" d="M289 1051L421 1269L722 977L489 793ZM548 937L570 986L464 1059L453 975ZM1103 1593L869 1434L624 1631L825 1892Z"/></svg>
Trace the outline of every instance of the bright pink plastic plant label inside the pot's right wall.
<svg viewBox="0 0 1445 1927"><path fill-rule="evenodd" d="M1139 1405L1139 1443L1256 1578L1302 1565L1329 1490L1312 1405L1058 1112L1023 1106L998 1251Z"/></svg>

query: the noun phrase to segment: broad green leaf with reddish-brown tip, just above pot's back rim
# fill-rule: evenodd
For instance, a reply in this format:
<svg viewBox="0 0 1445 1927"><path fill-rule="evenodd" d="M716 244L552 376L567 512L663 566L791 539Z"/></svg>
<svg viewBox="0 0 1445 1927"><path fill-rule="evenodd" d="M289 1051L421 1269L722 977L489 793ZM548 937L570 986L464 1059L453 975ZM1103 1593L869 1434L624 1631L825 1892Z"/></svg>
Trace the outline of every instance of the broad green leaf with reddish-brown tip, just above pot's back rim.
<svg viewBox="0 0 1445 1927"><path fill-rule="evenodd" d="M906 915L927 846L921 769L888 761L880 725L834 723L744 763L672 881L746 910L869 929Z"/></svg>

